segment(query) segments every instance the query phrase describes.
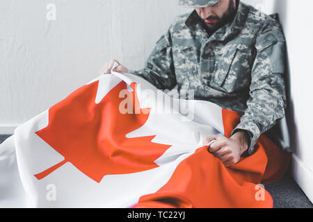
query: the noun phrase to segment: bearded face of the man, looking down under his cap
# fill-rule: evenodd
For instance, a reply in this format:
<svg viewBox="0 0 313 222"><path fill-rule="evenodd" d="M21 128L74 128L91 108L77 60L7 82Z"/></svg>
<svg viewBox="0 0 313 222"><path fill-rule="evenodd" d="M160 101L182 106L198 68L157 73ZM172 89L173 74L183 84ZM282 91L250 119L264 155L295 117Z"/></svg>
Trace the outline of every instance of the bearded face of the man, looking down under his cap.
<svg viewBox="0 0 313 222"><path fill-rule="evenodd" d="M195 8L201 19L211 31L216 31L234 19L236 0L220 0L214 6Z"/></svg>

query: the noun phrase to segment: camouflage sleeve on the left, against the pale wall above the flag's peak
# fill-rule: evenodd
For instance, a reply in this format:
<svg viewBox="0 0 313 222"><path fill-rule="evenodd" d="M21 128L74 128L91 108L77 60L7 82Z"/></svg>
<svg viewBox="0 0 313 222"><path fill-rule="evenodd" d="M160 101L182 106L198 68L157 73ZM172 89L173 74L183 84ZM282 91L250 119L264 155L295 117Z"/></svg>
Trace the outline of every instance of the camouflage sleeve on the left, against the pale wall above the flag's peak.
<svg viewBox="0 0 313 222"><path fill-rule="evenodd" d="M176 85L174 62L172 60L172 38L170 29L163 35L154 47L145 67L129 73L145 78L158 89L173 89Z"/></svg>

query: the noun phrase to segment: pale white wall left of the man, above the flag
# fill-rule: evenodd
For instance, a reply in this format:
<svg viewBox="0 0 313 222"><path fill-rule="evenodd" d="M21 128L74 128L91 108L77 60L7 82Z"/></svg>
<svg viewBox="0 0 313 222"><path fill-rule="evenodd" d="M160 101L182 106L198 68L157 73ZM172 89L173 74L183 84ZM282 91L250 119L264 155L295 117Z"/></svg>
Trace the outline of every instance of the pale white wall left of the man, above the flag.
<svg viewBox="0 0 313 222"><path fill-rule="evenodd" d="M56 6L56 20L47 14ZM143 67L177 0L1 0L0 134L99 75L106 60Z"/></svg>

